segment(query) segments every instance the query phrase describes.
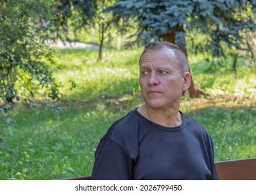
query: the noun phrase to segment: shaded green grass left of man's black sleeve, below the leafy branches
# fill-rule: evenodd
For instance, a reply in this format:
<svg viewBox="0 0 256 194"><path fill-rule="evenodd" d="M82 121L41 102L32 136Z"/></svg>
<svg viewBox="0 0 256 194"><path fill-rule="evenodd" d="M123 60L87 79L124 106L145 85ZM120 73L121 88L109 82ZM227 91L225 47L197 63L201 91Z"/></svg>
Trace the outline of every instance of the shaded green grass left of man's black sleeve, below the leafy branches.
<svg viewBox="0 0 256 194"><path fill-rule="evenodd" d="M63 114L41 109L16 115L1 145L1 179L90 174L95 146L115 118L118 114L107 109L82 106L65 108Z"/></svg>

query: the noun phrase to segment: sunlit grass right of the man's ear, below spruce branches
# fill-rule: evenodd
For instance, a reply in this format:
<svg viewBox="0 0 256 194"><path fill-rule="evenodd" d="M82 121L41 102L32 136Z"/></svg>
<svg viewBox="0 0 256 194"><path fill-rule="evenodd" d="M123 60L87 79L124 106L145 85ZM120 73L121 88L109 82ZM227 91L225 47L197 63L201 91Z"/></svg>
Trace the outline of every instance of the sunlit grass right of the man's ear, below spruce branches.
<svg viewBox="0 0 256 194"><path fill-rule="evenodd" d="M237 72L232 71L232 60L223 61L223 67L215 64L214 71L210 62L201 57L192 56L191 67L195 76L195 83L209 94L234 94L254 98L256 96L256 69L245 69L244 60L238 61Z"/></svg>

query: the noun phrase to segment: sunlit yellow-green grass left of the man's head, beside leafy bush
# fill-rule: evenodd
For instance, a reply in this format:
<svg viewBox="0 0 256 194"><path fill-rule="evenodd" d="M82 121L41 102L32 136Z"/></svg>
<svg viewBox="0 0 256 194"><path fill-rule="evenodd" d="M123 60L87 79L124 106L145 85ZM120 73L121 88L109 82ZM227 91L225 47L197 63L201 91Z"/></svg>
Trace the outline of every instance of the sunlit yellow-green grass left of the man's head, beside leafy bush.
<svg viewBox="0 0 256 194"><path fill-rule="evenodd" d="M72 100L113 98L138 93L138 51L106 51L103 61L97 51L61 51L56 78L63 94Z"/></svg>

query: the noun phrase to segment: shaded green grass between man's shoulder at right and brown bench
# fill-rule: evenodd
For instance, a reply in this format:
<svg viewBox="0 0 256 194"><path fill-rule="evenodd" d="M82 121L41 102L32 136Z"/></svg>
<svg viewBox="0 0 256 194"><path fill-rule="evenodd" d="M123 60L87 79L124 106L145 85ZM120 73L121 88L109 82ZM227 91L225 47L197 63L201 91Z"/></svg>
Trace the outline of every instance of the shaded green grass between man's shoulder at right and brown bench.
<svg viewBox="0 0 256 194"><path fill-rule="evenodd" d="M216 161L256 156L255 107L206 107L187 114L211 134Z"/></svg>

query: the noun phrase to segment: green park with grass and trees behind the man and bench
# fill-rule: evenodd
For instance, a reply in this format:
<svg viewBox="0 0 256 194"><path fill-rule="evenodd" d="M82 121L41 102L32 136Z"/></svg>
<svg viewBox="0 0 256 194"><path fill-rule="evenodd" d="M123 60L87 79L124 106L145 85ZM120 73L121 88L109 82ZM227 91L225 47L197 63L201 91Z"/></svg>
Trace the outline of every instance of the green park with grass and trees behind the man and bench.
<svg viewBox="0 0 256 194"><path fill-rule="evenodd" d="M1 180L91 175L99 140L143 103L153 40L186 53L180 110L209 132L214 161L256 157L255 1L148 2L1 1Z"/></svg>

